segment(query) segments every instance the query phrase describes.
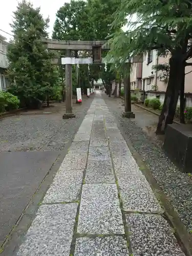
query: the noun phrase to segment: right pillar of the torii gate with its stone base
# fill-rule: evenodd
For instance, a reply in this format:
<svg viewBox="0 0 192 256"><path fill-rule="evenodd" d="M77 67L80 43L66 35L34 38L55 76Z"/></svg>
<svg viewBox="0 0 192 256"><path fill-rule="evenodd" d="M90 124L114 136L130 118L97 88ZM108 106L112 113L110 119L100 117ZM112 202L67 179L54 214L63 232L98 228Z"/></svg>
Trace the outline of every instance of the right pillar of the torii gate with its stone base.
<svg viewBox="0 0 192 256"><path fill-rule="evenodd" d="M130 84L130 71L131 62L125 64L124 70L124 112L122 117L135 118L135 114L132 112L131 106L131 84Z"/></svg>

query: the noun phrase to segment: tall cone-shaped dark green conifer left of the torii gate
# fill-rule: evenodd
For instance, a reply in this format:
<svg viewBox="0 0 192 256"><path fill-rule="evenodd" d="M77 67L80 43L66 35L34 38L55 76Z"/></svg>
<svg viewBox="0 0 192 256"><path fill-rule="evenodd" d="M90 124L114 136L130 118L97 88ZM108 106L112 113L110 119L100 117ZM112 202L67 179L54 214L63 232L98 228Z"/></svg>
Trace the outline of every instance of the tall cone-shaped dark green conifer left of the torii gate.
<svg viewBox="0 0 192 256"><path fill-rule="evenodd" d="M18 4L11 24L14 36L7 54L9 91L28 107L36 108L58 82L51 62L53 54L41 42L41 37L47 36L48 21L42 18L40 8L24 0Z"/></svg>

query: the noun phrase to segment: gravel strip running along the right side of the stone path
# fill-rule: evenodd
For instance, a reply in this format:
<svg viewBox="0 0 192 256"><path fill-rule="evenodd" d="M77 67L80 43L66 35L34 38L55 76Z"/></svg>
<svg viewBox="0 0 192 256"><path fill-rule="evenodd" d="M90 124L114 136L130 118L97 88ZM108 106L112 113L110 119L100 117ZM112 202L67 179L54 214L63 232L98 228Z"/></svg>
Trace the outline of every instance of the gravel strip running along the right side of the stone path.
<svg viewBox="0 0 192 256"><path fill-rule="evenodd" d="M155 142L132 119L122 118L124 106L120 99L109 98L103 94L105 103L116 117L121 133L132 142L135 150L150 168L152 175L177 210L187 230L192 231L192 179L188 174L181 173L166 157L160 144ZM145 119L143 112L143 119Z"/></svg>

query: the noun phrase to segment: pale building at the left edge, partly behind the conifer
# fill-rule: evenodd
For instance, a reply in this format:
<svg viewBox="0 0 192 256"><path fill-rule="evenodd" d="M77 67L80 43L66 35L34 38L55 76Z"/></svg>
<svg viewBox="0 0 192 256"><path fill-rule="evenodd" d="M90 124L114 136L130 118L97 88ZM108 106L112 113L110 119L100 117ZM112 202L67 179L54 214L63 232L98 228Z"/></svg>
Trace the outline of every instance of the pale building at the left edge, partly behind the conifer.
<svg viewBox="0 0 192 256"><path fill-rule="evenodd" d="M0 91L5 91L9 83L6 77L8 68L7 45L6 37L0 35Z"/></svg>

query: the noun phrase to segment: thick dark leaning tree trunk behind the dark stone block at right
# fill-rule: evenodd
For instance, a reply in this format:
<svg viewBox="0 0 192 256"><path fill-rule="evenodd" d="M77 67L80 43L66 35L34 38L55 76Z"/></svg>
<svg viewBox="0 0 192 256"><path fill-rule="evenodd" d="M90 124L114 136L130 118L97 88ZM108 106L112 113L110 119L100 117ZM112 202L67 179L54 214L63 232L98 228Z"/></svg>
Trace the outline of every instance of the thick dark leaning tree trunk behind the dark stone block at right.
<svg viewBox="0 0 192 256"><path fill-rule="evenodd" d="M173 123L179 97L179 90L182 83L182 67L184 66L182 60L180 58L173 58L172 56L169 59L169 64L169 79L165 93L163 108L157 125L156 134L164 134L166 125L168 123Z"/></svg>

